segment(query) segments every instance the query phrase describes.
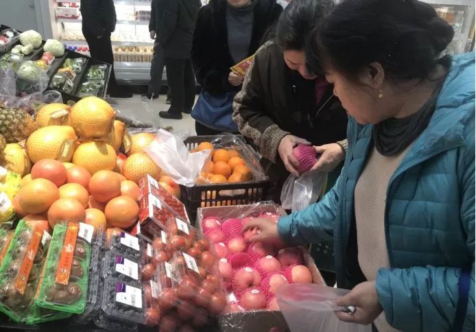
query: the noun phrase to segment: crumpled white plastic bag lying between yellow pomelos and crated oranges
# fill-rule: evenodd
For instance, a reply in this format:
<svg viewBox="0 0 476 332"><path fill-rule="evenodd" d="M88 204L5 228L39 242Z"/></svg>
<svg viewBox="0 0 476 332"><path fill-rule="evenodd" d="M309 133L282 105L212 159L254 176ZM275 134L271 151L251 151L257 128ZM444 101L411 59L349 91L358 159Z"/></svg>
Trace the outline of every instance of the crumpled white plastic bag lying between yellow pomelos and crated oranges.
<svg viewBox="0 0 476 332"><path fill-rule="evenodd" d="M172 180L186 187L195 185L195 178L209 158L208 150L191 154L180 137L163 129L144 150Z"/></svg>

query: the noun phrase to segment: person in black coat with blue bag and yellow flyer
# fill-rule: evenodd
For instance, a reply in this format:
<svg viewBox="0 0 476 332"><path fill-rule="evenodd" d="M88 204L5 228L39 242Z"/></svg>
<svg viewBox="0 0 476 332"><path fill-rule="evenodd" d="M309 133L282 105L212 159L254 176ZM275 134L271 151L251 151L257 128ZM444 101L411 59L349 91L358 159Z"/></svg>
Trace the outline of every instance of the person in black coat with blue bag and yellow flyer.
<svg viewBox="0 0 476 332"><path fill-rule="evenodd" d="M199 135L237 132L233 97L243 76L230 71L252 56L283 11L276 0L211 0L198 14L192 59L202 93L192 117Z"/></svg>

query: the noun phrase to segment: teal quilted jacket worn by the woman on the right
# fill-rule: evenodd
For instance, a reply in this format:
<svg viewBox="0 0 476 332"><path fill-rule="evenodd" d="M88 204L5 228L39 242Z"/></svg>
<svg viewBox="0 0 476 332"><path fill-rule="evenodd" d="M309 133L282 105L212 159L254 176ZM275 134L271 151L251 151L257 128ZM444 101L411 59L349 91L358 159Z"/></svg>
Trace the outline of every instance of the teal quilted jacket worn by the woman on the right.
<svg viewBox="0 0 476 332"><path fill-rule="evenodd" d="M333 189L321 202L278 222L287 243L333 240L337 283L346 288L359 282L352 277L355 262L349 263L348 246L355 228L354 190L373 146L372 126L350 119L348 143ZM461 268L472 264L464 329L474 331L474 53L451 60L429 126L390 179L384 222L391 268L381 268L376 282L388 322L403 331L449 331Z"/></svg>

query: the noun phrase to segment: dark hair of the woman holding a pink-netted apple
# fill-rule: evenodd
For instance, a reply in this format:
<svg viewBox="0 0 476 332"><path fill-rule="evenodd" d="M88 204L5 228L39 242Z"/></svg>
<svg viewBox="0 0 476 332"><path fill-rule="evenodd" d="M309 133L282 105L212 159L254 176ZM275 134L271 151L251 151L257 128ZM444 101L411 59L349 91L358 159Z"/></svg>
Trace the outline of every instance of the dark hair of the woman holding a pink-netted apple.
<svg viewBox="0 0 476 332"><path fill-rule="evenodd" d="M292 0L276 25L276 37L281 49L305 49L306 39L313 27L332 8L332 0Z"/></svg>

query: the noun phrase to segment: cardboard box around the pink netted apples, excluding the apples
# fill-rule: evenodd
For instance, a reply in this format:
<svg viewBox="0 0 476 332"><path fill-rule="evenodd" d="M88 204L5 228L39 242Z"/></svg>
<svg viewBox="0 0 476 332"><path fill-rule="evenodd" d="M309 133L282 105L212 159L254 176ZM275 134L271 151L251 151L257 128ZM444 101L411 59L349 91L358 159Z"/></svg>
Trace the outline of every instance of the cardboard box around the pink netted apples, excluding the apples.
<svg viewBox="0 0 476 332"><path fill-rule="evenodd" d="M204 231L202 224L207 218L220 217L222 220L226 220L226 218L230 220L233 218L243 218L245 216L257 217L259 215L272 215L276 213L280 215L286 214L281 206L276 208L276 204L272 202L252 205L206 207L198 209L196 224L200 230ZM303 247L298 247L298 250L302 253L302 264L307 266L311 272L312 283L326 285L324 278L322 278L309 252ZM263 279L263 281L264 280L265 279ZM233 298L233 296L229 296L228 300L231 302L236 299ZM254 309L245 312L231 309L230 311L230 313L224 313L219 317L219 331L289 331L289 327L281 311L270 309Z"/></svg>

